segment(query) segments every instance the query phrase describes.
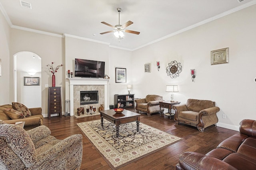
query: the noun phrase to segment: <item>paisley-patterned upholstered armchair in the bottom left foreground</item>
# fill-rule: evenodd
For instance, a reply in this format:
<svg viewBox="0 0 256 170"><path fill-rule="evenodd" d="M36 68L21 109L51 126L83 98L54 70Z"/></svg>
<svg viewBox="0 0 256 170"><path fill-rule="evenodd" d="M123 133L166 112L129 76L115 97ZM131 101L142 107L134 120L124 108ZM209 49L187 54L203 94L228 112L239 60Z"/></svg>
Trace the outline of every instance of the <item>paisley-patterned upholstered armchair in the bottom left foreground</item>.
<svg viewBox="0 0 256 170"><path fill-rule="evenodd" d="M51 136L42 125L25 131L0 121L1 170L79 170L82 162L82 135L64 140Z"/></svg>

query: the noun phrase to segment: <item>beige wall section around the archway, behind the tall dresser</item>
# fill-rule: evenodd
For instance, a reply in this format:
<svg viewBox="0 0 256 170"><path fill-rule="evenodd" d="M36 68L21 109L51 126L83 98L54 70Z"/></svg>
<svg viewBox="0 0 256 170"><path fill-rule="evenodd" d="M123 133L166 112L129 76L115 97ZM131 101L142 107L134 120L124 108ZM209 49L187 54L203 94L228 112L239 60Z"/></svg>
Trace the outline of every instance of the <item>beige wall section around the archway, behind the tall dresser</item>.
<svg viewBox="0 0 256 170"><path fill-rule="evenodd" d="M41 78L41 92L42 92L42 114L47 117L48 113L48 88L52 86L52 74L49 72L46 64L54 62L54 66L64 63L63 54L63 39L62 37L44 35L30 31L23 31L20 29L11 29L11 43L10 43L10 63L13 63L13 55L20 51L31 51L41 57L42 60L42 78ZM10 64L11 76L10 80L13 81L13 65ZM56 87L62 87L62 96L64 96L63 87L65 86L64 67L60 67L56 76ZM13 85L10 86L10 91L13 91ZM14 100L14 95L10 94L11 101ZM26 105L25 105L26 106ZM64 101L62 99L62 108L64 108ZM64 111L64 110L62 110Z"/></svg>

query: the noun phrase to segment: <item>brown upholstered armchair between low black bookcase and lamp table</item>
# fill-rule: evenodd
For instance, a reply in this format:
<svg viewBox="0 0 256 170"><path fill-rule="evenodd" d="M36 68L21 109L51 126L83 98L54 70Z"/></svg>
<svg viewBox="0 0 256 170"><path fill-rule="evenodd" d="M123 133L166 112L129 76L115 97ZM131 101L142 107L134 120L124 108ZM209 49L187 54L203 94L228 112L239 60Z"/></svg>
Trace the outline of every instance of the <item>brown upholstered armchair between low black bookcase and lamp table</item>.
<svg viewBox="0 0 256 170"><path fill-rule="evenodd" d="M135 100L137 113L142 111L147 113L148 116L152 113L158 113L160 111L160 101L163 101L163 97L153 94L147 95L146 98ZM162 108L161 111L164 111L164 108Z"/></svg>

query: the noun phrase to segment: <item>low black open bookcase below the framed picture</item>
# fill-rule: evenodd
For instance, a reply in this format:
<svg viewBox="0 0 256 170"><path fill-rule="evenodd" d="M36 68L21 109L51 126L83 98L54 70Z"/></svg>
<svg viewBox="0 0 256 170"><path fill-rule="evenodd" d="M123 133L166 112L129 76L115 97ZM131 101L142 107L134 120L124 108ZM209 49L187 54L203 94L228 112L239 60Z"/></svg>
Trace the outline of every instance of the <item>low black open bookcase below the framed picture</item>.
<svg viewBox="0 0 256 170"><path fill-rule="evenodd" d="M134 107L134 94L114 95L115 108L132 108Z"/></svg>

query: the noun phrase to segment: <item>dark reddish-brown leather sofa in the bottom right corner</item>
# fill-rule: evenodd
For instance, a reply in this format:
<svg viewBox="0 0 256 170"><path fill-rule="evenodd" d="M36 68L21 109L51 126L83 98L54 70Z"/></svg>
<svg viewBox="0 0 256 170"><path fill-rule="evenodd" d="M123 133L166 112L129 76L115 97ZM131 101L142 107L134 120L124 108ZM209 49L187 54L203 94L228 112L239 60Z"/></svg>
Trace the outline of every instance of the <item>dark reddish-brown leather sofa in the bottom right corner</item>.
<svg viewBox="0 0 256 170"><path fill-rule="evenodd" d="M256 170L256 121L240 122L240 133L207 154L184 152L176 170Z"/></svg>

